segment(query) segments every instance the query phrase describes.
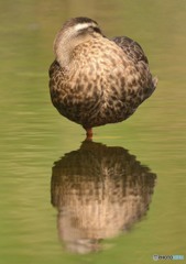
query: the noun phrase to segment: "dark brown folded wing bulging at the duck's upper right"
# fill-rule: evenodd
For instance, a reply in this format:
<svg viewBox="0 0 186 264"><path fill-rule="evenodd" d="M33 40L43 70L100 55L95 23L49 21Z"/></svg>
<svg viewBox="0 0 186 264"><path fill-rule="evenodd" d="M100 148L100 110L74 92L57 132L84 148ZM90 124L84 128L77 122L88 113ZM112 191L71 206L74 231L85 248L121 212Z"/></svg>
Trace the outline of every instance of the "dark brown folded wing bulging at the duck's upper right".
<svg viewBox="0 0 186 264"><path fill-rule="evenodd" d="M127 56L130 59L132 59L134 63L142 61L145 64L149 64L147 57L145 56L140 44L134 42L130 37L117 36L117 37L113 37L111 41L113 41L118 46L120 46L123 50L123 52L127 54Z"/></svg>

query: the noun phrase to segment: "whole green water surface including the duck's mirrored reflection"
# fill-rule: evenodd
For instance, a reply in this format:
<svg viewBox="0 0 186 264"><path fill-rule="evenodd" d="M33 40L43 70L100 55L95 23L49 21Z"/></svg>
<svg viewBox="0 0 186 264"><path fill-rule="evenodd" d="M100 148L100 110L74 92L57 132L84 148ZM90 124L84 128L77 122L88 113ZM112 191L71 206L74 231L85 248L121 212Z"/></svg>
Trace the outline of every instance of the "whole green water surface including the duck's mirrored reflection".
<svg viewBox="0 0 186 264"><path fill-rule="evenodd" d="M78 15L140 42L158 76L135 114L95 129L88 146L47 87L55 33ZM0 264L186 257L185 25L184 0L0 1Z"/></svg>

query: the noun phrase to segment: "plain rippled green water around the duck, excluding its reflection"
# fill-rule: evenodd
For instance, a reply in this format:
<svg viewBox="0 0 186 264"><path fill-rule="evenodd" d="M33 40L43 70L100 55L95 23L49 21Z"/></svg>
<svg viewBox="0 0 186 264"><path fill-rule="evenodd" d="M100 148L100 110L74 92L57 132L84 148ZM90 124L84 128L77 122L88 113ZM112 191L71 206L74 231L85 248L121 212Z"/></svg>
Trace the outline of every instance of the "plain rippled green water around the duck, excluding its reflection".
<svg viewBox="0 0 186 264"><path fill-rule="evenodd" d="M100 252L85 255L65 250L51 204L54 163L77 151L85 138L52 107L47 88L55 33L77 15L98 21L110 37L138 41L158 76L155 94L133 117L95 129L95 142L129 150L156 174L146 216L129 232L101 241ZM186 257L185 25L184 0L0 1L0 264Z"/></svg>

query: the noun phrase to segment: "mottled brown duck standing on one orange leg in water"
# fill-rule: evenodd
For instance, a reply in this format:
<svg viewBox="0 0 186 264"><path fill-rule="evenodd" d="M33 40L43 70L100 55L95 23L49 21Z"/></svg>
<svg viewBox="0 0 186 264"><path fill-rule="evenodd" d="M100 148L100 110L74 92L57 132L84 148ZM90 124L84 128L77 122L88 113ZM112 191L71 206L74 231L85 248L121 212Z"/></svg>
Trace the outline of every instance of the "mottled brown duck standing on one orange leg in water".
<svg viewBox="0 0 186 264"><path fill-rule="evenodd" d="M108 38L92 19L67 20L53 50L52 103L80 124L87 139L95 127L127 120L156 88L141 45L128 36Z"/></svg>

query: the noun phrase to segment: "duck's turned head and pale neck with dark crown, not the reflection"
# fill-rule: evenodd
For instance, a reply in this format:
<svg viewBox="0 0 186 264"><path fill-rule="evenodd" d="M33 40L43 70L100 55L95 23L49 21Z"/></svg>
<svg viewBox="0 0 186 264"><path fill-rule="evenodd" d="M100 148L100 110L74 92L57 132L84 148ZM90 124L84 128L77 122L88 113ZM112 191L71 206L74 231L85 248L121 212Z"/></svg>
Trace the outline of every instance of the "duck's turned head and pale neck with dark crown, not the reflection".
<svg viewBox="0 0 186 264"><path fill-rule="evenodd" d="M54 41L54 53L62 66L69 63L73 50L92 37L102 36L98 23L88 18L74 18L64 23Z"/></svg>

